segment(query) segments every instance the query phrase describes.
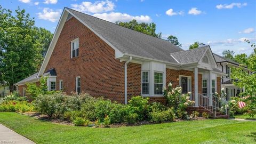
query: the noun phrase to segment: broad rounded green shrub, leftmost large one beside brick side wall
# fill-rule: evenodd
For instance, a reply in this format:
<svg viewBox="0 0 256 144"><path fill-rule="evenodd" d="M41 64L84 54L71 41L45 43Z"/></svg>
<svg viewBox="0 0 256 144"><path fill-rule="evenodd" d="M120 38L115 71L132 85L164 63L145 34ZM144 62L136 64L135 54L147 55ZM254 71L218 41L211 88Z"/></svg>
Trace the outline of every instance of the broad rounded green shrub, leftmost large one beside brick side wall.
<svg viewBox="0 0 256 144"><path fill-rule="evenodd" d="M53 93L46 95L39 95L34 101L35 109L42 114L46 114L49 117L55 116L59 118L63 116L67 110L65 106L66 95L62 93Z"/></svg>

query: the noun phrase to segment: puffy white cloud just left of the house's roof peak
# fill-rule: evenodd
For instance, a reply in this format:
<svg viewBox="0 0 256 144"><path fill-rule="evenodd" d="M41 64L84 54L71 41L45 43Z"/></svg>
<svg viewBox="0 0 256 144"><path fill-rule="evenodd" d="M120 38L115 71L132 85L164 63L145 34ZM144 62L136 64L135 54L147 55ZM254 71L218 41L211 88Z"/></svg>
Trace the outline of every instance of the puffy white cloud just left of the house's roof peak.
<svg viewBox="0 0 256 144"><path fill-rule="evenodd" d="M61 14L60 9L54 11L47 7L43 9L43 12L37 13L39 19L49 20L51 22L58 21L60 18L60 14Z"/></svg>

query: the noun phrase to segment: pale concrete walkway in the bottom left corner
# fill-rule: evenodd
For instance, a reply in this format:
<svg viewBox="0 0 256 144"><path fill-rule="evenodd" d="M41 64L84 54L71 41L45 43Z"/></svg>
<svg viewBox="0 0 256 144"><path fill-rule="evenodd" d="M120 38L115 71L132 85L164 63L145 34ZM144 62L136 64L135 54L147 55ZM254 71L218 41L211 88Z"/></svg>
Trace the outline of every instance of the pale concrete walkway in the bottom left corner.
<svg viewBox="0 0 256 144"><path fill-rule="evenodd" d="M17 143L17 144L30 144L35 143L22 135L10 130L8 127L0 124L0 143Z"/></svg>

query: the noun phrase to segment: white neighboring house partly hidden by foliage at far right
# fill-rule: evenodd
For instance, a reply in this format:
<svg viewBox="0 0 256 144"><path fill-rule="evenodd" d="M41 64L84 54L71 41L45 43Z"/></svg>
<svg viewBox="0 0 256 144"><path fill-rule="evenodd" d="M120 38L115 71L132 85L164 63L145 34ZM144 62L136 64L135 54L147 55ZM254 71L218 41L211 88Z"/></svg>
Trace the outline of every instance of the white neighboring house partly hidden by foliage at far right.
<svg viewBox="0 0 256 144"><path fill-rule="evenodd" d="M226 73L226 77L223 77L221 80L221 89L223 88L225 92L227 93L227 99L229 100L230 97L236 97L239 95L239 93L245 91L244 87L237 87L232 82L235 81L234 79L230 78L231 74L231 67L239 67L239 63L226 59L224 57L221 57L218 54L214 54L214 58L217 62L218 68L223 71L223 73ZM244 67L244 70L247 71L247 73L251 73L249 69Z"/></svg>

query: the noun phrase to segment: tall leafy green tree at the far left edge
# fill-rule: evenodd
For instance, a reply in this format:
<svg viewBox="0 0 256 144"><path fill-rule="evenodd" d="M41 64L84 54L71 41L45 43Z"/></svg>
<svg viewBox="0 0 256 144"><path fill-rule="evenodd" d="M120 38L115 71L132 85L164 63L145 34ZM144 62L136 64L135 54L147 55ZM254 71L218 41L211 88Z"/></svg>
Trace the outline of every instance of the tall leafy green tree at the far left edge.
<svg viewBox="0 0 256 144"><path fill-rule="evenodd" d="M25 10L18 7L12 14L0 5L0 82L10 84L11 91L14 83L34 74L43 60L42 43L47 38L34 24Z"/></svg>

